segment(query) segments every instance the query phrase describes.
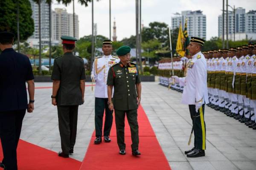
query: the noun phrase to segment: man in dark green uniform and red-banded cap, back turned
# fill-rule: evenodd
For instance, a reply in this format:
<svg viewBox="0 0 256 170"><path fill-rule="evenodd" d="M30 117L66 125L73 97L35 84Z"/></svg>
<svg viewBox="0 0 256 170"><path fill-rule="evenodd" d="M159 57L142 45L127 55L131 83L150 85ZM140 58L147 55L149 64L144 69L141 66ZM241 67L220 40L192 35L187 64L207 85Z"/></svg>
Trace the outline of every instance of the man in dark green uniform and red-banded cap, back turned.
<svg viewBox="0 0 256 170"><path fill-rule="evenodd" d="M84 60L72 54L75 38L62 36L64 54L55 58L52 70L52 105L57 105L62 152L68 158L76 143L78 106L84 103Z"/></svg>

